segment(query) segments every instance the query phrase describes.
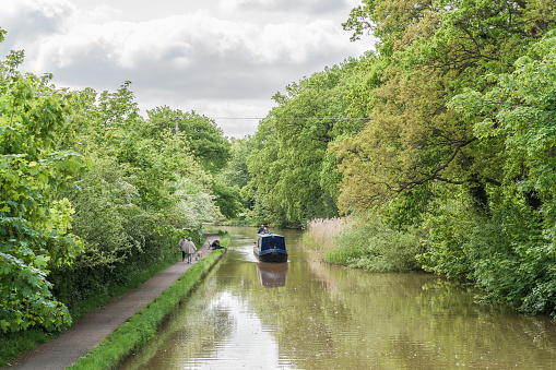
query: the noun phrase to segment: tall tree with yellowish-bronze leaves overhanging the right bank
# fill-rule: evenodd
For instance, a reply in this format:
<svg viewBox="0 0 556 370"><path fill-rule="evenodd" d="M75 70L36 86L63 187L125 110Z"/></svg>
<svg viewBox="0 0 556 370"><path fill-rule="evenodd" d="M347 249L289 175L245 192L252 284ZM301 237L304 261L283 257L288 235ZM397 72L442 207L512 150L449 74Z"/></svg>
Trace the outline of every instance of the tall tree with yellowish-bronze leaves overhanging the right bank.
<svg viewBox="0 0 556 370"><path fill-rule="evenodd" d="M501 184L502 144L477 141L446 102L511 71L520 50L549 27L528 33L529 13L525 2L393 0L366 1L352 13L346 28L357 36L369 27L393 53L385 83L370 92L371 123L336 146L346 175L342 210L385 204L429 181L468 187L486 203L485 187Z"/></svg>

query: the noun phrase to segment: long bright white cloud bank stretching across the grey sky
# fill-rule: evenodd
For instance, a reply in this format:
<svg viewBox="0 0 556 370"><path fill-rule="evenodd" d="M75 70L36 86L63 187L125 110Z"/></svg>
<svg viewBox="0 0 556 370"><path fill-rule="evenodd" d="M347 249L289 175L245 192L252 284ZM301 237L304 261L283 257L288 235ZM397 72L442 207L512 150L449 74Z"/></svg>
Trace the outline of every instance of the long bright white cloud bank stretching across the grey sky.
<svg viewBox="0 0 556 370"><path fill-rule="evenodd" d="M74 24L63 34L46 35L32 44L27 62L38 70L63 69L94 58L122 70L159 64L187 71L196 56L204 53L245 65L303 63L321 53L322 45L327 52L342 50L343 36L330 21L259 26L196 13L140 23Z"/></svg>

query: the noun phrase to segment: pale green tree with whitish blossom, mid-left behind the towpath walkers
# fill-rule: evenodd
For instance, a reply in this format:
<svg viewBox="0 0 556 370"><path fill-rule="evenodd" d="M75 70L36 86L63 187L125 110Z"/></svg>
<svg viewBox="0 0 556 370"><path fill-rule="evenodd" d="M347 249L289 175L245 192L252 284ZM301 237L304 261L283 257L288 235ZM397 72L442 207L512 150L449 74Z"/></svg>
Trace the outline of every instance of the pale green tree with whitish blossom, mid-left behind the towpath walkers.
<svg viewBox="0 0 556 370"><path fill-rule="evenodd" d="M139 116L129 86L74 93L80 115L73 123L84 132L82 148L91 163L76 181L81 191L68 194L75 204L75 232L85 241L84 266L151 254L162 235L199 229L215 214L211 176L182 136L153 130Z"/></svg>

